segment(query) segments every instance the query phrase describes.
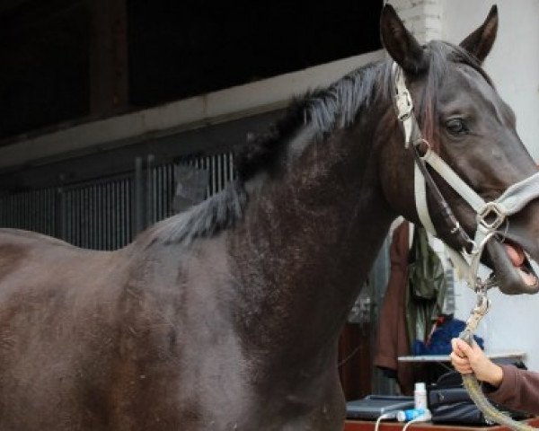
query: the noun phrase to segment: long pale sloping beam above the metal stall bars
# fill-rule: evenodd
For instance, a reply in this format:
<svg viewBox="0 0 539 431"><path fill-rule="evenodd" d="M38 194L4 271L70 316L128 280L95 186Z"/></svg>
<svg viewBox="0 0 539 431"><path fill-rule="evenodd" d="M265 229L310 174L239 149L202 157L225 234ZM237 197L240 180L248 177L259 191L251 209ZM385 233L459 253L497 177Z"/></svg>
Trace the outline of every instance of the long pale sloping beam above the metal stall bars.
<svg viewBox="0 0 539 431"><path fill-rule="evenodd" d="M27 137L0 146L0 172L282 109L296 94L327 86L359 66L384 58L384 55L384 50L379 49L219 92Z"/></svg>

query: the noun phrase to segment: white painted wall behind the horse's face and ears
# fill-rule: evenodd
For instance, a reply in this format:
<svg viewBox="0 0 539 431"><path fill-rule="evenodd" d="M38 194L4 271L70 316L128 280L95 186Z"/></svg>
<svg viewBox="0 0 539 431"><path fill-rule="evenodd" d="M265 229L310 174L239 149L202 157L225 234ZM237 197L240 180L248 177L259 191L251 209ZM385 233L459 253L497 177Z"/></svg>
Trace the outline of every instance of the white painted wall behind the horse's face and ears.
<svg viewBox="0 0 539 431"><path fill-rule="evenodd" d="M492 2L439 0L442 38L463 40L486 17ZM484 67L502 98L517 114L517 131L535 161L539 161L539 0L498 0L499 32ZM456 317L465 320L474 295L456 286ZM489 294L492 307L479 333L488 350L526 352L526 365L539 371L539 295Z"/></svg>

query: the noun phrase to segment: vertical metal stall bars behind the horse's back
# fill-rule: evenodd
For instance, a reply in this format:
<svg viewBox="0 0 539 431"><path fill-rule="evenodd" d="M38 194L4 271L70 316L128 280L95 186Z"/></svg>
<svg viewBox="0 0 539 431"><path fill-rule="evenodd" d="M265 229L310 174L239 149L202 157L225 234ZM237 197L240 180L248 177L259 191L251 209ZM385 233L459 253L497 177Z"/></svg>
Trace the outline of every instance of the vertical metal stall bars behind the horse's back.
<svg viewBox="0 0 539 431"><path fill-rule="evenodd" d="M173 215L174 164L62 189L40 189L0 195L0 227L45 233L76 246L115 250L133 241L137 231ZM207 197L234 179L230 153L189 156L181 164L208 171Z"/></svg>

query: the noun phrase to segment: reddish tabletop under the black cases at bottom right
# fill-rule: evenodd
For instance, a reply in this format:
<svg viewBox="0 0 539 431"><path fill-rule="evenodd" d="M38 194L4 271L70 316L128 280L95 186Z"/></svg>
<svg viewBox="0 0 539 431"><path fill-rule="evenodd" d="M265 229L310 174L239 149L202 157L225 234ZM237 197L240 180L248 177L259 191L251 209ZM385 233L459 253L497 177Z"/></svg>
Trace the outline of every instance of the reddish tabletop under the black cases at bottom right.
<svg viewBox="0 0 539 431"><path fill-rule="evenodd" d="M539 427L539 418L527 419L524 421L530 427ZM402 422L384 421L378 428L379 431L399 431L404 427ZM347 420L344 424L344 431L373 431L375 429L375 421L367 420ZM508 427L465 427L456 425L434 425L430 422L418 422L411 424L408 427L410 431L473 431L473 430L489 430L489 431L510 431Z"/></svg>

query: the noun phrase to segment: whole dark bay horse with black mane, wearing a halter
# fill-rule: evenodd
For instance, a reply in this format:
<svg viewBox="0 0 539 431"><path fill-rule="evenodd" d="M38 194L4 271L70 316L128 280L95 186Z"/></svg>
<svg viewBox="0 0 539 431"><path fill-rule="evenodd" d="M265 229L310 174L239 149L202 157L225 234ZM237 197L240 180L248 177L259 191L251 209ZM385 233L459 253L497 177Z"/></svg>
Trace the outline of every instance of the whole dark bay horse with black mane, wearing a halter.
<svg viewBox="0 0 539 431"><path fill-rule="evenodd" d="M481 67L497 23L493 8L460 46L421 47L385 6L391 58L296 101L224 192L125 249L1 230L0 429L340 431L340 329L395 216L419 223L393 61L423 136L479 195L537 172ZM471 208L433 176L472 233ZM485 258L506 293L536 290L511 253L539 257L538 206Z"/></svg>

